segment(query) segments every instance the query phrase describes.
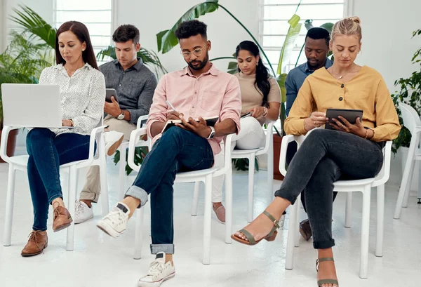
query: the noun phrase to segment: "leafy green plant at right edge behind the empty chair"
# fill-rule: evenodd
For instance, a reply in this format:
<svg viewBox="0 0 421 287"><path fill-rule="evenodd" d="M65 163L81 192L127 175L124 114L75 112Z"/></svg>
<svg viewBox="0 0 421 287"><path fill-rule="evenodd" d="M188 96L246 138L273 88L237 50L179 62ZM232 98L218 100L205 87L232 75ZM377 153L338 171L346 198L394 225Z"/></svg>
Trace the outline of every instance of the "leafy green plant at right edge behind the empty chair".
<svg viewBox="0 0 421 287"><path fill-rule="evenodd" d="M421 29L417 29L413 32L413 37L421 34ZM394 86L399 87L401 90L396 91L392 94L392 99L396 107L396 112L399 115L399 122L401 123L401 131L398 137L393 141L392 152L396 154L398 149L402 153L402 171L405 167L406 156L408 155L408 149L410 144L410 131L405 127L402 118L401 110L399 109L399 102L404 102L413 107L418 114L421 114L421 47L415 51L412 58L413 65L417 65L417 71L413 72L407 79L399 79L394 82ZM414 171L415 173L416 171ZM417 177L413 177L412 186L417 182ZM413 187L411 189L417 189Z"/></svg>

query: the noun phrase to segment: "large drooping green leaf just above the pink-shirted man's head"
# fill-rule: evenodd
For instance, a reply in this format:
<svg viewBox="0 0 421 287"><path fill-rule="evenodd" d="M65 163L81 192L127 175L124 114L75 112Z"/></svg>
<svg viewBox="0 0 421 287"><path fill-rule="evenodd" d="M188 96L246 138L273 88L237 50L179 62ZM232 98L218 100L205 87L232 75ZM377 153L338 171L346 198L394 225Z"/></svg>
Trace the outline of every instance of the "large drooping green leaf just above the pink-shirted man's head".
<svg viewBox="0 0 421 287"><path fill-rule="evenodd" d="M206 2L197 4L184 13L175 25L168 30L161 31L156 34L156 44L158 44L158 51L163 54L171 51L177 46L178 39L174 32L182 22L199 18L206 13L212 13L218 9L218 0L206 0Z"/></svg>

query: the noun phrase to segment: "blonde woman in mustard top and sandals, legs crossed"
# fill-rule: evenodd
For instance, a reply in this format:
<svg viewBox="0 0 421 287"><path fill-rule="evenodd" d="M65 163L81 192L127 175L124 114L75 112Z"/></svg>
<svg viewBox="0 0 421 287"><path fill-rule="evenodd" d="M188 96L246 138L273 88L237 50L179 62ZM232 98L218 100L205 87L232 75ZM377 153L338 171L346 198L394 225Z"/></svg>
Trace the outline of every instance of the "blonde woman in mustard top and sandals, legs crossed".
<svg viewBox="0 0 421 287"><path fill-rule="evenodd" d="M321 287L339 286L332 251L333 182L377 175L382 168L385 141L396 138L401 129L382 76L373 68L354 63L361 51L361 37L358 17L335 23L330 40L335 62L307 77L285 129L288 134L305 135L326 124L328 108L362 109L363 119L349 124L340 117L344 124L333 119L333 130L317 129L309 134L288 166L274 201L250 225L232 235L248 245L262 239L274 240L275 220L305 190L313 246L319 253L317 285Z"/></svg>

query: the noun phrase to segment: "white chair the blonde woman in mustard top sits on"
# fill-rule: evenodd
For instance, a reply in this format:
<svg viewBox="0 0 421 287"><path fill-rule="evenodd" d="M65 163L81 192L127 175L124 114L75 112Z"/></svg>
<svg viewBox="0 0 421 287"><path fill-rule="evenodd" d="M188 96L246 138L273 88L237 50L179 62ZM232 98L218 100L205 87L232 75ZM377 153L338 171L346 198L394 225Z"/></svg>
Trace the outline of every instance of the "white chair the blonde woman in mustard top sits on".
<svg viewBox="0 0 421 287"><path fill-rule="evenodd" d="M308 135L308 133L307 133ZM290 142L296 141L298 148L305 140L305 136L286 135L282 138L281 156L279 161L279 171L286 175L286 151ZM383 227L385 218L385 183L389 180L390 159L392 156L392 142L386 143L383 149L383 166L380 173L375 178L366 178L362 180L338 180L334 184L336 192L348 192L347 204L345 208L345 227L350 227L352 215L352 192L362 192L363 208L361 220L361 254L359 276L362 279L367 278L368 273L368 239L370 229L370 195L371 187L377 187L377 240L375 255L383 256ZM285 269L293 269L294 246L300 246L300 237L298 235L299 227L300 199L290 207L290 219L288 230L288 243L286 246L286 264Z"/></svg>

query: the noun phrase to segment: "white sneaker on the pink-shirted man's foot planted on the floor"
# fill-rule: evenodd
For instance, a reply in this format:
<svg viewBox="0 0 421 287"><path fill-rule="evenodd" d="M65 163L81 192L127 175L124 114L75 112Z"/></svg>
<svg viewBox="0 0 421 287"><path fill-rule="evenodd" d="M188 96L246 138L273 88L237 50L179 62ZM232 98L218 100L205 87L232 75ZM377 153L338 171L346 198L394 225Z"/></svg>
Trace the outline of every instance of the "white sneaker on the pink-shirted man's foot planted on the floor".
<svg viewBox="0 0 421 287"><path fill-rule="evenodd" d="M161 286L163 281L175 276L175 267L170 261L165 262L166 254L163 252L156 253L154 262L149 265L149 271L138 281L138 287L155 287Z"/></svg>

